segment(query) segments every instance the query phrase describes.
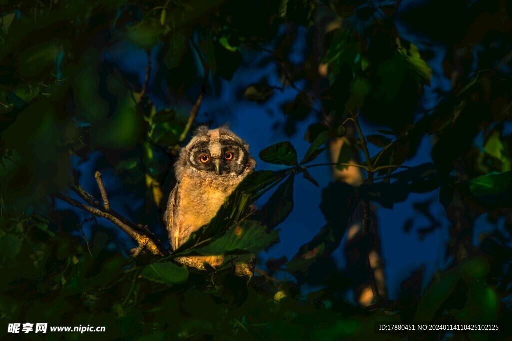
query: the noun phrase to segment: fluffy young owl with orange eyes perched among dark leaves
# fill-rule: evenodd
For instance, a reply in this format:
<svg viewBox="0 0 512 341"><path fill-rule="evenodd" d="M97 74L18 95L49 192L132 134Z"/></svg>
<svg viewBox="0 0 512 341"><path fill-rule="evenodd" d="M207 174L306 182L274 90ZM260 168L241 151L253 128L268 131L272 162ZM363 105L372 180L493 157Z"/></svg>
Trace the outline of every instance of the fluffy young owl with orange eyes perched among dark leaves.
<svg viewBox="0 0 512 341"><path fill-rule="evenodd" d="M175 164L177 183L164 214L173 250L215 217L224 200L255 167L249 145L237 134L226 127L197 129L180 151ZM224 260L222 255L193 258L212 266Z"/></svg>

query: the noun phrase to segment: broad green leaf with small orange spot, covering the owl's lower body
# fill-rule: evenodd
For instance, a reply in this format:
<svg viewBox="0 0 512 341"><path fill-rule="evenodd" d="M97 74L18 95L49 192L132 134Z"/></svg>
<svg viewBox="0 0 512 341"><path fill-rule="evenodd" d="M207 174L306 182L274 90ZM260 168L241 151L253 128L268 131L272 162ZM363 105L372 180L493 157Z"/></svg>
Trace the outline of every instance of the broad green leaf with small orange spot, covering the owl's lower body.
<svg viewBox="0 0 512 341"><path fill-rule="evenodd" d="M253 254L278 241L277 231L268 232L267 227L259 222L245 220L231 226L221 238L195 251L201 255Z"/></svg>

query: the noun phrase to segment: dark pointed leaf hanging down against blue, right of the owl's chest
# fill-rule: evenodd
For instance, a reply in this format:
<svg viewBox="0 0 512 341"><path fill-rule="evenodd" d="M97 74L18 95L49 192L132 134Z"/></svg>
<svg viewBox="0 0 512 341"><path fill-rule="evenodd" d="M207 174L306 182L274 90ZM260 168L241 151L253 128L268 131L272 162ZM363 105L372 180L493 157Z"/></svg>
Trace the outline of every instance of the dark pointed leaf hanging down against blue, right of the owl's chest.
<svg viewBox="0 0 512 341"><path fill-rule="evenodd" d="M269 229L273 229L293 211L293 183L295 173L291 174L278 189L272 193L267 203L261 209L263 221L268 225Z"/></svg>

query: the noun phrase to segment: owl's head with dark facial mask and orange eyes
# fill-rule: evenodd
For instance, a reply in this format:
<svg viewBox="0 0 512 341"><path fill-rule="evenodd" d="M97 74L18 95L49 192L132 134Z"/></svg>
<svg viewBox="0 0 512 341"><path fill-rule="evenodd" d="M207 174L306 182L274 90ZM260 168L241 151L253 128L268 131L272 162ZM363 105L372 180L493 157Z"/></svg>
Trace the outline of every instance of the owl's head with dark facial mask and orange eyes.
<svg viewBox="0 0 512 341"><path fill-rule="evenodd" d="M209 130L201 126L190 143L181 149L176 163L176 177L187 170L217 176L242 175L256 167L249 145L226 127Z"/></svg>

